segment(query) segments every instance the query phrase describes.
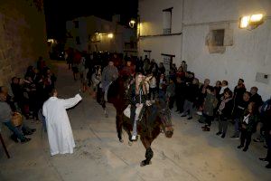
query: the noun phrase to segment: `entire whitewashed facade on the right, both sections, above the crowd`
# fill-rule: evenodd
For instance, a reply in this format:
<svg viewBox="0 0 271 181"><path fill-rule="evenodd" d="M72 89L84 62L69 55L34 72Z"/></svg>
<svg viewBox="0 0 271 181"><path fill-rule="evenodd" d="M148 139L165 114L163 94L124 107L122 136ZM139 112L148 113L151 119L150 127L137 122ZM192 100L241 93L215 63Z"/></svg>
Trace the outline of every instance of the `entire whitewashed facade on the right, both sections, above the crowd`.
<svg viewBox="0 0 271 181"><path fill-rule="evenodd" d="M270 98L270 0L138 2L139 56L177 66L186 61L200 81L228 80L231 90L242 78L248 90L257 86L264 100ZM240 18L251 14L263 14L263 24L239 28Z"/></svg>

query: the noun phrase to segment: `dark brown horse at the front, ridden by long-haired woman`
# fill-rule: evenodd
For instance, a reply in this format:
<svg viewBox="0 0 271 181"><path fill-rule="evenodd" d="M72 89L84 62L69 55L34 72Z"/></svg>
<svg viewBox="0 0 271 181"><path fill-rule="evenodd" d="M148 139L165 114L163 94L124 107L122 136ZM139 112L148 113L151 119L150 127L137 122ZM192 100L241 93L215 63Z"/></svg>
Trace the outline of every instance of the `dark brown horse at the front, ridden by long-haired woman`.
<svg viewBox="0 0 271 181"><path fill-rule="evenodd" d="M113 82L108 92L114 93L108 93L107 100L117 110L117 138L120 142L123 142L122 129L125 129L131 143L131 131L133 130L134 123L123 113L127 107L126 91L129 82L130 80L122 78L118 78L117 81ZM171 110L168 109L166 102L164 100L157 100L151 106L144 106L137 123L137 134L140 136L140 140L146 149L145 160L141 162L141 167L151 164L151 159L154 157L151 144L161 132L164 132L166 138L172 138L173 124L171 121Z"/></svg>

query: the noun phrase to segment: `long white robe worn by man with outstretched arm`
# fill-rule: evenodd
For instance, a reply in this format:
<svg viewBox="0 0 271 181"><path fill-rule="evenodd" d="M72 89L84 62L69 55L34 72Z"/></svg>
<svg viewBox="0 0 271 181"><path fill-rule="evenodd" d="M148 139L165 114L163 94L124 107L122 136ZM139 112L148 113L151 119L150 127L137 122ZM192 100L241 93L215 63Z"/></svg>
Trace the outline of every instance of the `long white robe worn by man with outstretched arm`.
<svg viewBox="0 0 271 181"><path fill-rule="evenodd" d="M66 109L75 106L79 100L82 98L77 94L67 100L51 97L44 102L42 113L46 120L51 156L73 153L75 143Z"/></svg>

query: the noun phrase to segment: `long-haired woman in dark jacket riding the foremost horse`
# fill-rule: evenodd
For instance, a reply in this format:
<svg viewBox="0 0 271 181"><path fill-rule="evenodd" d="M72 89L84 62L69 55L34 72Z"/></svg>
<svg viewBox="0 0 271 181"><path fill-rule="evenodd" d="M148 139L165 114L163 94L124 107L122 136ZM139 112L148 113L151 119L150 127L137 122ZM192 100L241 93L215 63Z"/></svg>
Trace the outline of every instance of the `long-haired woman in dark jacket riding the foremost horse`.
<svg viewBox="0 0 271 181"><path fill-rule="evenodd" d="M135 75L135 82L131 84L127 93L127 99L129 101L129 104L131 105L130 119L131 122L134 122L132 140L135 140L137 136L137 118L135 117L135 110L136 108L139 109L139 107L142 107L145 104L145 100L147 97L147 90L145 88L145 84L143 83L143 79L144 75L142 73L137 73Z"/></svg>

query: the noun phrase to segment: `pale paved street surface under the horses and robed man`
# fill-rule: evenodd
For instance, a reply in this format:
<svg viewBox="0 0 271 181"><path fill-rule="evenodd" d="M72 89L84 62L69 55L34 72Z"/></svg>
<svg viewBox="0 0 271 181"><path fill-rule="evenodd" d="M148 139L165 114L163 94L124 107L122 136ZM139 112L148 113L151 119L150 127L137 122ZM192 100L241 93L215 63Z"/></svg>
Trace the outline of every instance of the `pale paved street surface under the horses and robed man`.
<svg viewBox="0 0 271 181"><path fill-rule="evenodd" d="M79 92L79 82L73 81L66 64L55 63L57 88L61 98ZM237 149L238 140L215 135L217 124L210 132L202 132L201 125L173 113L173 138L160 135L154 140L153 164L140 167L145 148L140 141L128 146L119 143L115 125L115 111L109 105L105 118L98 103L88 93L77 107L69 110L70 124L77 148L72 155L50 157L47 135L42 125L28 121L37 129L26 144L5 141L12 156L7 159L0 148L0 180L270 180L271 172L259 161L266 154L261 144L252 143L248 152Z"/></svg>

